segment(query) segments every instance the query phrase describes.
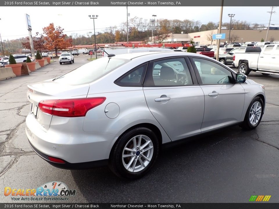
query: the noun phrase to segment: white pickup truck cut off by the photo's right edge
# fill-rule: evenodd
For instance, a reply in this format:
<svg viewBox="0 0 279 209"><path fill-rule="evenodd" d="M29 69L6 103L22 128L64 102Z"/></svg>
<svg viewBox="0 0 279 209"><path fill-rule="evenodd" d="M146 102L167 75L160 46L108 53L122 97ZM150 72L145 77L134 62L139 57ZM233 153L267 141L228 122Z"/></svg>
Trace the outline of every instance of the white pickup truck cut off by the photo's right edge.
<svg viewBox="0 0 279 209"><path fill-rule="evenodd" d="M245 75L251 71L279 75L279 44L264 45L260 53L235 53L233 64Z"/></svg>

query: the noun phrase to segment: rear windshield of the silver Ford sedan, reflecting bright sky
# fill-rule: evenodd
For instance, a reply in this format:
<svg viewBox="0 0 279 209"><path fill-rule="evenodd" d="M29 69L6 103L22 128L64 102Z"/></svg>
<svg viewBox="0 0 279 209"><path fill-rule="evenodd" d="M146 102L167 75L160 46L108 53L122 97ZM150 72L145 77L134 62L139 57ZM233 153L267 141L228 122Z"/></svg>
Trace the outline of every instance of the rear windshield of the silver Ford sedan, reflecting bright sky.
<svg viewBox="0 0 279 209"><path fill-rule="evenodd" d="M68 85L91 83L129 61L118 58L99 58L56 78L54 81Z"/></svg>

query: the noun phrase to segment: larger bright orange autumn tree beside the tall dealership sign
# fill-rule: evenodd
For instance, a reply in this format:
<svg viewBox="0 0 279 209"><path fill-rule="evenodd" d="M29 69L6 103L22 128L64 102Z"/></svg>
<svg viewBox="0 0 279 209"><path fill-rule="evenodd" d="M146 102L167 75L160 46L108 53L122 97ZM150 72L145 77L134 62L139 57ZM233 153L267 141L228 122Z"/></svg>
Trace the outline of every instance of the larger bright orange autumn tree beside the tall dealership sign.
<svg viewBox="0 0 279 209"><path fill-rule="evenodd" d="M64 28L61 28L60 26L54 27L53 23L43 28L44 34L46 35L44 36L46 48L48 50L54 50L56 57L58 50L72 46L72 39L67 39L67 35L63 34L63 30Z"/></svg>

